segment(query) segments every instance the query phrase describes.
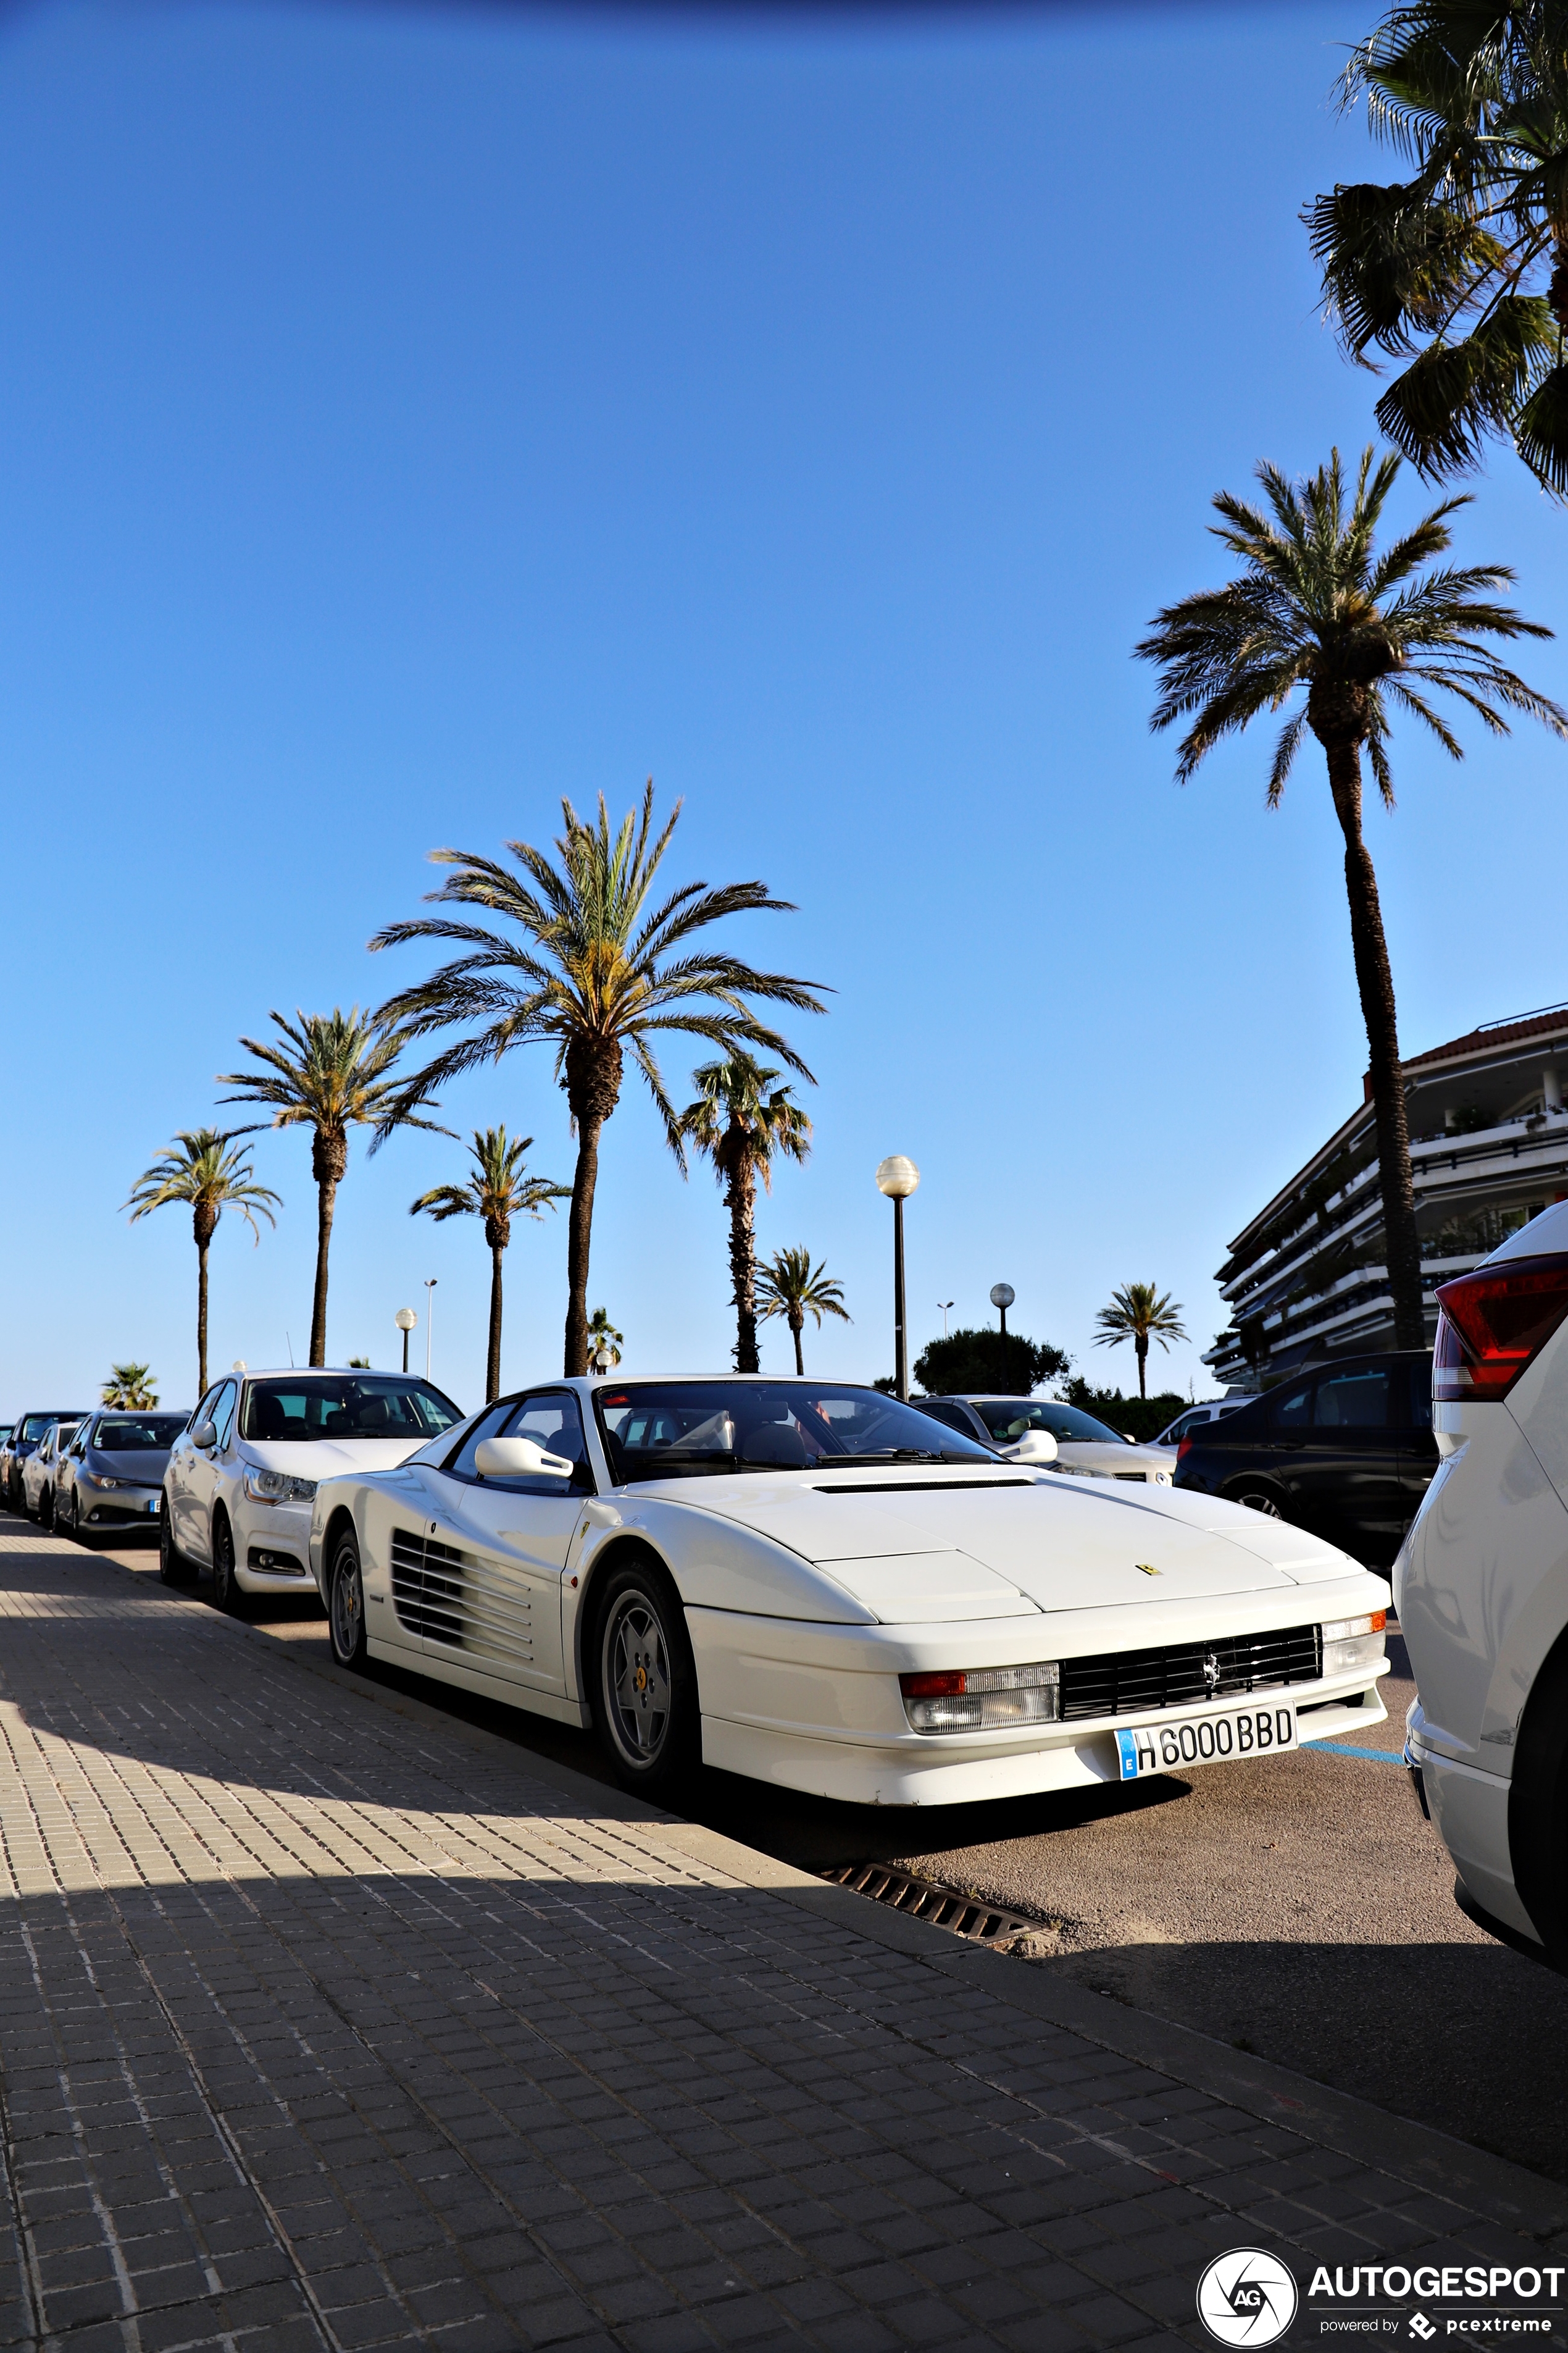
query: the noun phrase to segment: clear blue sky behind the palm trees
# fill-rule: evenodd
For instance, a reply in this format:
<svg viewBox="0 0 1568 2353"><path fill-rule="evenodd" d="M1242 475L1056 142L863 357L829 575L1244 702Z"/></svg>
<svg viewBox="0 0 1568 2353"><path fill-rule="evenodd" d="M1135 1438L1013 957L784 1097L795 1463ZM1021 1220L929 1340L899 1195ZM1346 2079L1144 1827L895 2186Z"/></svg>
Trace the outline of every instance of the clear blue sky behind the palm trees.
<svg viewBox="0 0 1568 2353"><path fill-rule="evenodd" d="M1187 791L1128 647L1218 576L1208 499L1371 431L1298 209L1368 176L1331 108L1371 0L832 26L416 7L75 7L0 31L0 1414L110 1358L193 1393L195 1252L136 1172L214 1115L268 1007L369 1002L440 842L545 840L559 795L684 798L672 873L797 915L733 944L835 988L799 1024L816 1155L764 1200L891 1367L990 1315L1093 1351L1154 1278L1197 1346L1227 1238L1361 1092L1316 755ZM1512 459L1462 548L1563 616L1568 518ZM1401 485L1410 515L1420 485ZM1568 652L1530 656L1568 692ZM1568 753L1396 741L1373 812L1406 1049L1568 995ZM682 1089L698 1056L670 1056ZM444 1099L571 1174L543 1052ZM240 1118L230 1113L228 1118ZM212 1254L212 1360L308 1334L308 1139ZM409 1219L456 1144L355 1141L329 1353L477 1402L477 1226ZM559 1369L562 1221L520 1233L505 1377ZM729 1360L717 1188L628 1082L592 1304L628 1369ZM771 1327L764 1365L788 1365ZM421 1334L423 1341L423 1334ZM423 1353L423 1348L421 1348ZM1194 1351L1154 1358L1206 1388Z"/></svg>

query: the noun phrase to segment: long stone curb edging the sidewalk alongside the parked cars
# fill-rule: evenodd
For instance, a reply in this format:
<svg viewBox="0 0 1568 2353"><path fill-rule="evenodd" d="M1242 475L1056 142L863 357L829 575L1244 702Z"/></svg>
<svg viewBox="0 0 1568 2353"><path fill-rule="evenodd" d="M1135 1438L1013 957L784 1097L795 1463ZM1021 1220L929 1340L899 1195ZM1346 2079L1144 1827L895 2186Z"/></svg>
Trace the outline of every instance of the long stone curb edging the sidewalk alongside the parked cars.
<svg viewBox="0 0 1568 2353"><path fill-rule="evenodd" d="M40 1544L49 1541L66 1546L66 1539L40 1539ZM134 1579L146 1574L110 1553L94 1558L122 1577ZM1568 2231L1568 2191L1542 2174L1528 2172L1523 2165L1514 2165L1509 2158L1497 2158L1490 2151L1474 2148L1469 2141L1458 2141L1434 2125L1420 2125L1413 2118L1375 2108L1352 2092L1335 2092L1309 2075L1274 2066L1272 2059L1237 2052L1192 2026L1178 2026L1147 2009L1133 2009L1110 1995L1091 1993L1067 1977L1053 1977L1048 1960L1023 1960L964 1944L929 1920L889 1911L870 1897L856 1894L851 1887L818 1880L809 1871L780 1864L771 1854L745 1847L722 1831L668 1814L614 1784L595 1781L571 1765L538 1755L531 1748L520 1748L517 1741L498 1732L468 1725L463 1718L449 1715L430 1701L388 1689L367 1678L343 1675L336 1666L301 1657L292 1642L207 1609L207 1605L179 1591L160 1586L158 1598L176 1607L202 1609L209 1624L228 1628L242 1642L263 1642L268 1657L287 1659L299 1673L315 1675L339 1692L339 1697L362 1699L369 1706L404 1718L409 1725L442 1732L447 1739L463 1739L484 1755L505 1758L512 1767L527 1769L531 1779L557 1791L574 1812L588 1819L642 1824L661 1845L675 1847L693 1864L722 1871L741 1887L795 1904L799 1911L832 1922L832 1927L851 1929L870 1944L919 1960L957 1984L980 1986L992 2000L1020 2012L1020 2024L1027 2019L1081 2035L1086 2042L1098 2042L1103 2049L1168 2075L1187 2089L1206 2092L1211 2099L1222 2099L1248 2115L1300 2132L1305 2139L1354 2158L1361 2165L1375 2165L1382 2172L1396 2174L1413 2188L1448 2198L1502 2228L1542 2240ZM517 1713L527 1715L527 1711Z"/></svg>

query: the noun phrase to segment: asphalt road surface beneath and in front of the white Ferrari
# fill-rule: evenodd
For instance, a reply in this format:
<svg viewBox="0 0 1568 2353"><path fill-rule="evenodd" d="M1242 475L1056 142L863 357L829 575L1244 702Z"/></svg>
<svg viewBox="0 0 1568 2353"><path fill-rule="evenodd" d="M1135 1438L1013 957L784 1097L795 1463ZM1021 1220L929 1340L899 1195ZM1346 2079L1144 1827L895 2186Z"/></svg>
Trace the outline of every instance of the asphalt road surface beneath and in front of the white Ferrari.
<svg viewBox="0 0 1568 2353"><path fill-rule="evenodd" d="M155 1574L150 1551L118 1553ZM209 1588L202 1584L200 1588ZM310 1602L252 1621L327 1652ZM983 1807L827 1805L701 1772L684 1812L804 1868L891 1861L1041 1920L1018 1967L1258 2052L1568 2181L1568 1979L1476 1929L1399 1765L1413 1697L1347 1746L1128 1791ZM376 1668L470 1722L609 1779L588 1734Z"/></svg>

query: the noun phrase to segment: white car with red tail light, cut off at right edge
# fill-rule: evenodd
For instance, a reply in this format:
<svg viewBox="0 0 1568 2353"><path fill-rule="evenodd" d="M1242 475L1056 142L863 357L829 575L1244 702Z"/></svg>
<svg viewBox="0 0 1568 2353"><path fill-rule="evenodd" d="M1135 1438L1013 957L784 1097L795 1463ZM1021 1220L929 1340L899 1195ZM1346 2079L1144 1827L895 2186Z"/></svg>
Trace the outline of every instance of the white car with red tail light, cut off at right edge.
<svg viewBox="0 0 1568 2353"><path fill-rule="evenodd" d="M1462 1911L1568 1967L1568 1202L1436 1297L1406 1762Z"/></svg>

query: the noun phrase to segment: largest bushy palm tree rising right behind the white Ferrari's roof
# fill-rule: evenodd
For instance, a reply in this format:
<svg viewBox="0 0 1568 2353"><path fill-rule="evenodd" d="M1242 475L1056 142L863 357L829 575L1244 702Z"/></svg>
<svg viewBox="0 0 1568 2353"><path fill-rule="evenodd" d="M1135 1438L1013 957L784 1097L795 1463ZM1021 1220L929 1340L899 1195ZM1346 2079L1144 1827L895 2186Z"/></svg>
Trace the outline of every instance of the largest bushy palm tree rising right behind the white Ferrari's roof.
<svg viewBox="0 0 1568 2353"><path fill-rule="evenodd" d="M555 1049L555 1078L567 1089L578 1155L571 1179L567 1242L567 1374L588 1369L588 1254L592 1242L592 1195L599 1176L599 1136L621 1099L625 1054L665 1122L679 1165L686 1153L679 1120L654 1056L654 1040L675 1031L705 1038L722 1054L762 1047L792 1071L811 1075L745 1002L764 998L799 1012L823 1012L816 988L783 972L752 972L719 948L691 948L696 932L724 915L762 908L788 911L762 882L682 882L649 913L649 894L679 819L679 802L654 838L654 784L642 795L642 814L628 814L609 831L604 795L597 824L585 824L562 802L564 833L557 861L531 842L508 842L520 868L465 849L435 849L437 866L456 873L430 899L473 906L510 925L494 932L449 915L421 915L376 932L371 948L409 939L449 939L463 953L428 981L400 991L381 1007L409 1035L475 1024L468 1038L430 1061L414 1087L444 1085L456 1071L498 1061L515 1045L543 1040Z"/></svg>

